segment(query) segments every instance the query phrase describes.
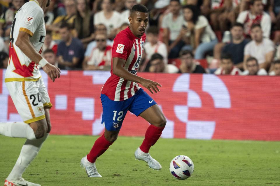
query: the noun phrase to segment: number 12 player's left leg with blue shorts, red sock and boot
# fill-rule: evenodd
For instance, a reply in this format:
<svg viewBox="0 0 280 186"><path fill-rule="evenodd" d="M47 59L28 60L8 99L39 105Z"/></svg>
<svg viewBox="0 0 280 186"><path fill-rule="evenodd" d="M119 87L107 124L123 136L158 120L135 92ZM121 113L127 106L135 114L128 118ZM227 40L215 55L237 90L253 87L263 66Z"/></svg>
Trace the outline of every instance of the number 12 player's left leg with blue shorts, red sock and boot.
<svg viewBox="0 0 280 186"><path fill-rule="evenodd" d="M105 125L105 132L97 138L88 155L81 160L81 167L85 168L89 177L102 177L96 169L95 161L117 140L131 100L132 98L125 101L112 101L101 94L103 108L101 123Z"/></svg>

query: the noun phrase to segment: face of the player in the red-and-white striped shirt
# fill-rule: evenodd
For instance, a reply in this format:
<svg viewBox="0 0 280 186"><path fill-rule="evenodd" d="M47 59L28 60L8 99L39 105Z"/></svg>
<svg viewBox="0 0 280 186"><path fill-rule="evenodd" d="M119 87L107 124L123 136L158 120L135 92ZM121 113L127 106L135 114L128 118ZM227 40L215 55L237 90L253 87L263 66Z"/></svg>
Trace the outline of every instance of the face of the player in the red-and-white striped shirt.
<svg viewBox="0 0 280 186"><path fill-rule="evenodd" d="M147 28L149 14L144 12L133 12L129 17L130 29L136 37L141 37Z"/></svg>

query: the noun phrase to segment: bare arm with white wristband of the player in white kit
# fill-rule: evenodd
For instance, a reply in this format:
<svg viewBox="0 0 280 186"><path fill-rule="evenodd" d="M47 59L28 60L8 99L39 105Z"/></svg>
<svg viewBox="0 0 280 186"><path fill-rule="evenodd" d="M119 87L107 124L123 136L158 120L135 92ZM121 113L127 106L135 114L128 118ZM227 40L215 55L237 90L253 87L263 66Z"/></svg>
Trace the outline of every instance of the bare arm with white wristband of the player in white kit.
<svg viewBox="0 0 280 186"><path fill-rule="evenodd" d="M30 42L30 35L27 32L20 31L15 45L32 61L36 64L42 66L43 70L50 76L52 81L55 81L55 78L60 77L60 69L50 64L46 59L44 59L33 47Z"/></svg>

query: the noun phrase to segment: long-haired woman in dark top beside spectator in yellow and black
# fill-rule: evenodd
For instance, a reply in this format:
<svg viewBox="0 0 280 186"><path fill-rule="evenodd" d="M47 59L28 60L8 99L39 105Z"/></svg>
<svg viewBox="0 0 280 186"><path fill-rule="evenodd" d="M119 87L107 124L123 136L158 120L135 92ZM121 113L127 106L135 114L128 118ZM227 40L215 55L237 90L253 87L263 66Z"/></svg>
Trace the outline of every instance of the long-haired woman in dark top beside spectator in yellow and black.
<svg viewBox="0 0 280 186"><path fill-rule="evenodd" d="M86 0L77 0L77 16L74 19L74 28L78 39L88 44L94 38L93 14L87 6Z"/></svg>

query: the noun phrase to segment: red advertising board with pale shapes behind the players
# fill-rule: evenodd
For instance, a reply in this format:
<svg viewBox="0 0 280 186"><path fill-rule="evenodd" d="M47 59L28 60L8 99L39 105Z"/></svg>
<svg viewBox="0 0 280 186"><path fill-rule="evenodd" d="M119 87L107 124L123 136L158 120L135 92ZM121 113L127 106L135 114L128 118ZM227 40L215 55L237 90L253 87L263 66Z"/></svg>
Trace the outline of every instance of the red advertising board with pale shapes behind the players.
<svg viewBox="0 0 280 186"><path fill-rule="evenodd" d="M0 122L22 121L0 70ZM280 77L155 74L161 91L150 96L167 118L165 138L280 140ZM42 72L53 107L52 134L100 135L100 91L108 71L62 71L54 83ZM141 85L140 85L141 86ZM145 90L145 89L144 89ZM148 122L130 112L120 135L143 136Z"/></svg>

